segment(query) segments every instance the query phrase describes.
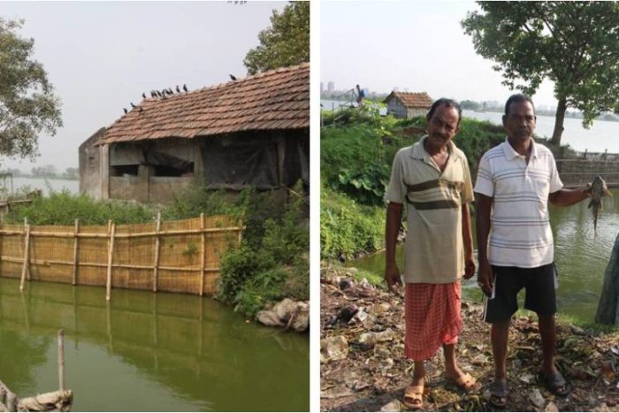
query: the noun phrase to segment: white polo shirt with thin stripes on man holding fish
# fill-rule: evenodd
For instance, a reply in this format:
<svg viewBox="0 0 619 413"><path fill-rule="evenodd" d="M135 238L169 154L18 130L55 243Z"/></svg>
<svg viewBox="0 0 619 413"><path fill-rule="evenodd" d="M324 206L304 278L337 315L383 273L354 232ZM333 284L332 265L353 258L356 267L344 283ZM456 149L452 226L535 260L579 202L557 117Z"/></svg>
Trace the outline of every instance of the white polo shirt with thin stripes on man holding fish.
<svg viewBox="0 0 619 413"><path fill-rule="evenodd" d="M548 195L563 187L553 153L531 140L531 157L506 139L479 162L475 192L493 198L488 261L535 268L554 260Z"/></svg>

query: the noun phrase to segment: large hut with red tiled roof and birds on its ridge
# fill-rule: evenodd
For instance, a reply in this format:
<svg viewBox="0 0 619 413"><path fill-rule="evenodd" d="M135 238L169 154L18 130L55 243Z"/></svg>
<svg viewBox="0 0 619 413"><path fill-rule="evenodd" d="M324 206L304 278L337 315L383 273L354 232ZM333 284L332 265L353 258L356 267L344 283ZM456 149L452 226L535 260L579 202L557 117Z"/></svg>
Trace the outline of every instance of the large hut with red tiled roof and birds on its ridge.
<svg viewBox="0 0 619 413"><path fill-rule="evenodd" d="M147 98L80 146L80 191L166 203L192 183L282 189L310 180L310 64Z"/></svg>

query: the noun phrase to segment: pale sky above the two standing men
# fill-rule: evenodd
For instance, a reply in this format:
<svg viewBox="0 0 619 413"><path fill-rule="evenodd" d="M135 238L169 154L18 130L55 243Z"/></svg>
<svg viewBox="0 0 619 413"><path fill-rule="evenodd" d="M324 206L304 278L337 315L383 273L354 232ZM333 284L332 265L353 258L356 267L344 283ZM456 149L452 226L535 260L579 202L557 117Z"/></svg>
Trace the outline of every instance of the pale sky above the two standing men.
<svg viewBox="0 0 619 413"><path fill-rule="evenodd" d="M321 75L335 88L390 92L426 91L433 98L496 100L512 93L501 85L493 62L478 56L460 21L473 2L323 2ZM536 106L555 106L553 84L533 96Z"/></svg>

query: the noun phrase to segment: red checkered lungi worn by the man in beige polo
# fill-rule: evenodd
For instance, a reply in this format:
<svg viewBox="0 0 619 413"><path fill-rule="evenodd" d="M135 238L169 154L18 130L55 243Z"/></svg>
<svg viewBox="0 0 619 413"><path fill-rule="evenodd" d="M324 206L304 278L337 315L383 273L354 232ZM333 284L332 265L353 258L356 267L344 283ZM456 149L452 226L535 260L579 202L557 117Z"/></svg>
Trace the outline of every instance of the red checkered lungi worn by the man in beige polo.
<svg viewBox="0 0 619 413"><path fill-rule="evenodd" d="M462 332L460 280L450 284L406 284L404 356L426 360Z"/></svg>

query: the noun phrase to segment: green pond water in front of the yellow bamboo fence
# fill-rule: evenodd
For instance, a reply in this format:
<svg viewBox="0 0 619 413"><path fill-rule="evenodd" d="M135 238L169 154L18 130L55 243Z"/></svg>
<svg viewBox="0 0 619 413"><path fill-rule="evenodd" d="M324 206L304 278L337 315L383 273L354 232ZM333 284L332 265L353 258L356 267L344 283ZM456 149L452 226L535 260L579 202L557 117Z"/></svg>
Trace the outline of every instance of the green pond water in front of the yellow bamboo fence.
<svg viewBox="0 0 619 413"><path fill-rule="evenodd" d="M208 297L0 279L0 380L76 411L308 411L308 334L247 323Z"/></svg>

